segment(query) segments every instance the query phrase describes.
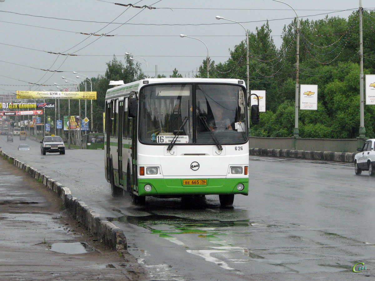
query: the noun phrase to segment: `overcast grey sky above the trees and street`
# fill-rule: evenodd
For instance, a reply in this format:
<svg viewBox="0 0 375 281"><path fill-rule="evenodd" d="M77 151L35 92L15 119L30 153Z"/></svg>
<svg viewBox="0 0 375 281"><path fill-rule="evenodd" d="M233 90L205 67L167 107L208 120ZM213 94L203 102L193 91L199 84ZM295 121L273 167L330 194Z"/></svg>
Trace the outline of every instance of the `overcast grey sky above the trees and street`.
<svg viewBox="0 0 375 281"><path fill-rule="evenodd" d="M359 0L284 2L303 19L321 19L327 14L347 18L359 7ZM371 9L375 4L363 0L362 6ZM184 77L192 77L207 49L202 42L181 38L180 34L202 40L216 63L228 60L228 50L245 39L245 30L239 24L217 20L217 15L241 22L252 32L268 19L277 47L282 28L296 16L288 5L272 0L4 0L0 2L0 94L55 91L58 89L53 83L66 84L62 76L82 81L73 71L90 78L104 75L105 63L113 55L124 61L125 52L145 58L148 67L141 67L150 76L155 76L157 65L158 74L169 77L177 68Z"/></svg>

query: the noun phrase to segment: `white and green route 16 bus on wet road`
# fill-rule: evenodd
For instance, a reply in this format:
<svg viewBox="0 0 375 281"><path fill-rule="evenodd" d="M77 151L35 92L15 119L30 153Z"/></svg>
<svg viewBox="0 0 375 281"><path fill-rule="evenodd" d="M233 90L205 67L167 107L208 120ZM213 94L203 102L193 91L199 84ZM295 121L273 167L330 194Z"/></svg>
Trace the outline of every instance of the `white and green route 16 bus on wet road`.
<svg viewBox="0 0 375 281"><path fill-rule="evenodd" d="M110 85L122 81L111 81ZM254 113L254 114L253 114ZM259 122L252 106L252 122ZM243 80L150 78L107 90L105 175L114 197L248 195L248 98Z"/></svg>

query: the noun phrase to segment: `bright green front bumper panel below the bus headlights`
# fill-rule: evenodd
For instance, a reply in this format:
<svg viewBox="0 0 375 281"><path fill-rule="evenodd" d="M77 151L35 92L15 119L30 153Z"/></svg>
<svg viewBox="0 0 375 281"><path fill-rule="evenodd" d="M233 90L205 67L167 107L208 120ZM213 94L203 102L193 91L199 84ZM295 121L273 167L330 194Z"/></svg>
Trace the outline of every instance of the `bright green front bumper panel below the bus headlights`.
<svg viewBox="0 0 375 281"><path fill-rule="evenodd" d="M249 178L207 178L207 185L182 185L183 179L138 179L139 196L155 195L208 195L208 194L243 194L248 195ZM237 185L242 183L242 191ZM151 184L149 192L144 190L145 184Z"/></svg>

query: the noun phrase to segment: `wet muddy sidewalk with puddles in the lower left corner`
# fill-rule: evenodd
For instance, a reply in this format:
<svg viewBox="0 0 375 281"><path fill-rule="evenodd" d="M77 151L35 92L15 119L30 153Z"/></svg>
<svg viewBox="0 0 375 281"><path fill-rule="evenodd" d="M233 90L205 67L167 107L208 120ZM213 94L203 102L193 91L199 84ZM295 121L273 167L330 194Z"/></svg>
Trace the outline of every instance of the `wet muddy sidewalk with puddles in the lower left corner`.
<svg viewBox="0 0 375 281"><path fill-rule="evenodd" d="M52 190L0 157L0 280L147 280L133 256L105 246Z"/></svg>

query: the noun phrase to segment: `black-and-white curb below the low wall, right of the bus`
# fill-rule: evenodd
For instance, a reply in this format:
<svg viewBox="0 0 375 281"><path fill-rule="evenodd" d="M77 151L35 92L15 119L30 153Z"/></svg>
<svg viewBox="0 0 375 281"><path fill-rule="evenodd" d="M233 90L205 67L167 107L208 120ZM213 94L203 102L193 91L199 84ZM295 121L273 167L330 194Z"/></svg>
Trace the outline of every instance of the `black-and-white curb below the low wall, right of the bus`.
<svg viewBox="0 0 375 281"><path fill-rule="evenodd" d="M354 163L356 153L249 148L249 155Z"/></svg>

